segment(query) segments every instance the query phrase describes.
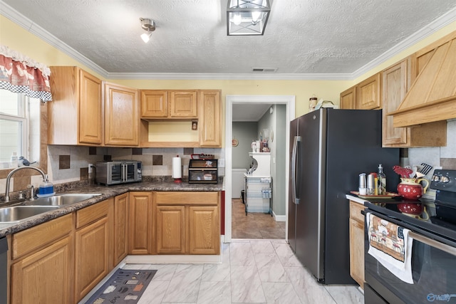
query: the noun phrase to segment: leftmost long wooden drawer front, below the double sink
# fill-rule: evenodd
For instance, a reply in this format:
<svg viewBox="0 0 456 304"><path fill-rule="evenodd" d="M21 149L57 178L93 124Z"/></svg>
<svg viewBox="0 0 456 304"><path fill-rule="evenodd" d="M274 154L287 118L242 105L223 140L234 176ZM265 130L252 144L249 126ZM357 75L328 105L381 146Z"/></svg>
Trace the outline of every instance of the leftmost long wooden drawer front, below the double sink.
<svg viewBox="0 0 456 304"><path fill-rule="evenodd" d="M66 214L38 226L13 234L11 258L19 258L51 241L66 236L73 229L73 215Z"/></svg>

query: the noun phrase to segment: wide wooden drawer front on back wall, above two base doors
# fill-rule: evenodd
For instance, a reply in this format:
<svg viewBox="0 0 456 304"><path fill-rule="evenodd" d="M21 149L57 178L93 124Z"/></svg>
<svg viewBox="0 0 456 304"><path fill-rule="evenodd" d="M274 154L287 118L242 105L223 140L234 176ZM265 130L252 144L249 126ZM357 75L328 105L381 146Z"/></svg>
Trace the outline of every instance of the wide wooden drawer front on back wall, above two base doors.
<svg viewBox="0 0 456 304"><path fill-rule="evenodd" d="M155 192L157 205L217 205L219 192Z"/></svg>

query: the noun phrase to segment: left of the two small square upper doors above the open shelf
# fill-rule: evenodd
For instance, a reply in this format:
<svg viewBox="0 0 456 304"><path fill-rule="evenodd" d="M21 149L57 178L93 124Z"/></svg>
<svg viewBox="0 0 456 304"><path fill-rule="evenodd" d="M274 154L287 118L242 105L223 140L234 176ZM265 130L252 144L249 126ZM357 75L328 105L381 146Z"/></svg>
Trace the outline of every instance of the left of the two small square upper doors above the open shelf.
<svg viewBox="0 0 456 304"><path fill-rule="evenodd" d="M167 117L167 91L141 91L141 118Z"/></svg>

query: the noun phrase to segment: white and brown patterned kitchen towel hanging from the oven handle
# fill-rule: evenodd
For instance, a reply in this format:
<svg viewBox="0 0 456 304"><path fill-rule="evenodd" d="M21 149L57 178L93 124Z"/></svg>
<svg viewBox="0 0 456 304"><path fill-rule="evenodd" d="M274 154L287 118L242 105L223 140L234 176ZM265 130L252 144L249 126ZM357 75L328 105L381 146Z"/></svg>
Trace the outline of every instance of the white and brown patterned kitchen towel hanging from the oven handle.
<svg viewBox="0 0 456 304"><path fill-rule="evenodd" d="M368 253L405 283L413 284L413 239L408 229L367 214Z"/></svg>

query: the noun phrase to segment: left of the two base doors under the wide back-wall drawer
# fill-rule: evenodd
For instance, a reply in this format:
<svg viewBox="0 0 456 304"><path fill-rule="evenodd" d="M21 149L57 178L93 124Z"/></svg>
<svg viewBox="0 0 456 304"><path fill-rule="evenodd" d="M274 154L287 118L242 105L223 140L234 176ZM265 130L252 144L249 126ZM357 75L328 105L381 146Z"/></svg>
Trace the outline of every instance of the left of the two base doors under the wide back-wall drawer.
<svg viewBox="0 0 456 304"><path fill-rule="evenodd" d="M185 253L185 206L157 206L157 253Z"/></svg>

